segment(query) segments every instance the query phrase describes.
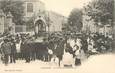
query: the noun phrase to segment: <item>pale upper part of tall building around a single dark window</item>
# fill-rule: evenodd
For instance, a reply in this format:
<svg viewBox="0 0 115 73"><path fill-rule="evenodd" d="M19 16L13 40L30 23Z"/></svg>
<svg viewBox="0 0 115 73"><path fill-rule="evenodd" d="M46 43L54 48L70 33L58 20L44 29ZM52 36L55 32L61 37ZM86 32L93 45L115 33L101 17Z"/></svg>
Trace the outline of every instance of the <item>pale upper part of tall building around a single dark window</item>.
<svg viewBox="0 0 115 73"><path fill-rule="evenodd" d="M22 0L24 1L24 19L29 20L38 13L45 12L45 4L40 0Z"/></svg>

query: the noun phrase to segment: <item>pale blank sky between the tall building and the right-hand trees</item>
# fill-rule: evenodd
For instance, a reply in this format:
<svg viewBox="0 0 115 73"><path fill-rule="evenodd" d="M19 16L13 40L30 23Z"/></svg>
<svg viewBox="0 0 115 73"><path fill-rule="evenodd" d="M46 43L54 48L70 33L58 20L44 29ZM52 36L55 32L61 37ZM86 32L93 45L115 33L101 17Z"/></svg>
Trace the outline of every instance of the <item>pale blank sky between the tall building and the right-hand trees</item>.
<svg viewBox="0 0 115 73"><path fill-rule="evenodd" d="M83 8L91 0L40 0L45 3L46 9L68 16L73 8Z"/></svg>

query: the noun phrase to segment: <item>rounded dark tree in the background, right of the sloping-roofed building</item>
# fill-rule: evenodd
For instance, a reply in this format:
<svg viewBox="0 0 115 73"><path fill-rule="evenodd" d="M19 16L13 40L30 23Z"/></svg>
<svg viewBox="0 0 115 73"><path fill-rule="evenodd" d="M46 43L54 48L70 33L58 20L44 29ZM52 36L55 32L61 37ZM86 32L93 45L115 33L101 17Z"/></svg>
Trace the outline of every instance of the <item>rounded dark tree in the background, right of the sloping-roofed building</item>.
<svg viewBox="0 0 115 73"><path fill-rule="evenodd" d="M81 31L82 24L82 10L73 9L68 18L68 28L70 31Z"/></svg>

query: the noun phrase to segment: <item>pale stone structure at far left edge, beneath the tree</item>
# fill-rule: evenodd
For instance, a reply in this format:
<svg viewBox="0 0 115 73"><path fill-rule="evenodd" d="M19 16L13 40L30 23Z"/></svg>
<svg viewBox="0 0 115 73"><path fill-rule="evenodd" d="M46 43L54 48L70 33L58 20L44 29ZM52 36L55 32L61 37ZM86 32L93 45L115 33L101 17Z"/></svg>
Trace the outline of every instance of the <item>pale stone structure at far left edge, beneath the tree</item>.
<svg viewBox="0 0 115 73"><path fill-rule="evenodd" d="M15 24L12 21L12 14L9 12L8 14L4 14L2 10L0 10L0 33L15 33Z"/></svg>

